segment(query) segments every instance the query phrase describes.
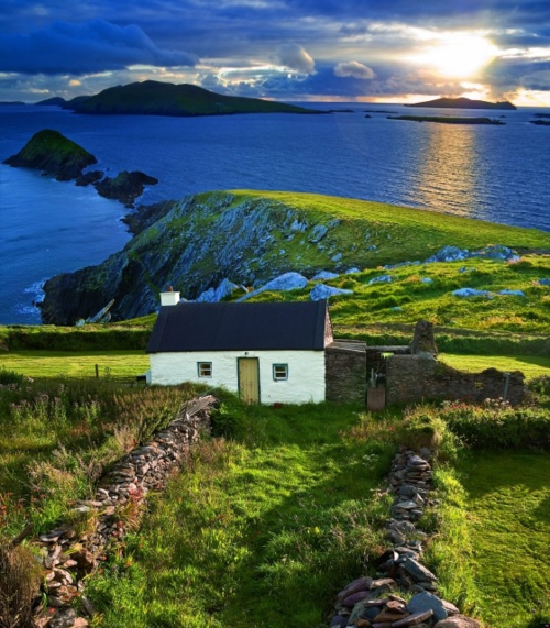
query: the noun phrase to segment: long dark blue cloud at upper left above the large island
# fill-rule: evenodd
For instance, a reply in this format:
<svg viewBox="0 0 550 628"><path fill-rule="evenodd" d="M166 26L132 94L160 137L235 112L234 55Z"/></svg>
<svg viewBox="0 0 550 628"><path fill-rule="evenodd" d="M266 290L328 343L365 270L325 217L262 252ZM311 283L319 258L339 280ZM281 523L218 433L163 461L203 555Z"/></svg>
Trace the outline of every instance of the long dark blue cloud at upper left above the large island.
<svg viewBox="0 0 550 628"><path fill-rule="evenodd" d="M182 51L158 48L136 25L105 20L80 24L55 22L28 35L0 35L0 71L26 75L100 73L132 65L194 66Z"/></svg>

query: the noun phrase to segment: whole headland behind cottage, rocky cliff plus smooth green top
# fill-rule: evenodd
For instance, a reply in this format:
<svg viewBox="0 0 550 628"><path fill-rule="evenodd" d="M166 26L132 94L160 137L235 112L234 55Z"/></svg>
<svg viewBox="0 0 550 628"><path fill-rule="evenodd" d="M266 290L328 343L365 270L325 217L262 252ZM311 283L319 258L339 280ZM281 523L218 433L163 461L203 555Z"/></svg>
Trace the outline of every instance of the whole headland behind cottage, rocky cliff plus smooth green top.
<svg viewBox="0 0 550 628"><path fill-rule="evenodd" d="M144 316L168 285L195 299L224 279L257 288L287 272L310 279L488 244L548 251L550 234L346 198L209 192L176 202L99 266L50 279L43 320L74 324L111 299L113 320Z"/></svg>

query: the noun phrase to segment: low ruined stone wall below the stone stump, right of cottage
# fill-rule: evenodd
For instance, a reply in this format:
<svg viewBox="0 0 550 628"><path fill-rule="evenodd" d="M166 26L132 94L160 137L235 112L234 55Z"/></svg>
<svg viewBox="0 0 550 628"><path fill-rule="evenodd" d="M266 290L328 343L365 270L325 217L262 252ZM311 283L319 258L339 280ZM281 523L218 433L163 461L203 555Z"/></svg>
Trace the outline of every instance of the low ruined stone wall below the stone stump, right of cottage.
<svg viewBox="0 0 550 628"><path fill-rule="evenodd" d="M388 404L448 399L481 403L505 396L506 376L496 368L482 373L463 373L430 355L392 355L386 359ZM506 399L517 405L524 400L524 374L509 374Z"/></svg>

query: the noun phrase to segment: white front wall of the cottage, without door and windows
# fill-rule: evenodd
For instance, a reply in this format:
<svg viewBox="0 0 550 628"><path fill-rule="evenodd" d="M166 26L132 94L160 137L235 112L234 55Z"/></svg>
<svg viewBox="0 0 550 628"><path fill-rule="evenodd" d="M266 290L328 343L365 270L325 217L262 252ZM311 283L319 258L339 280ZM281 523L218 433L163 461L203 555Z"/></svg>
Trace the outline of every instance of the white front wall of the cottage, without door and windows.
<svg viewBox="0 0 550 628"><path fill-rule="evenodd" d="M260 361L262 404L306 404L324 400L324 351L206 351L151 353L151 383L198 382L239 392L238 359ZM211 377L199 377L198 363L212 364ZM275 381L274 364L288 364L288 379Z"/></svg>

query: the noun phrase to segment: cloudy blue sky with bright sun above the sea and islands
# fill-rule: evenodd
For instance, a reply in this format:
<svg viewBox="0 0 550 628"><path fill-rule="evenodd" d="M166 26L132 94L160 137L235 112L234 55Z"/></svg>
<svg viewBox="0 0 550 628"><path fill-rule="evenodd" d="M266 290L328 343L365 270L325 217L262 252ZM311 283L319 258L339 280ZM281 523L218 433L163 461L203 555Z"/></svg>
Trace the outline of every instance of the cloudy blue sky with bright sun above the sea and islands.
<svg viewBox="0 0 550 628"><path fill-rule="evenodd" d="M134 81L550 107L550 0L0 0L0 101Z"/></svg>

